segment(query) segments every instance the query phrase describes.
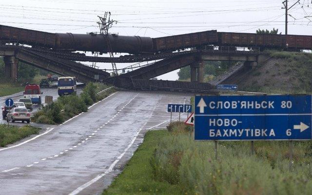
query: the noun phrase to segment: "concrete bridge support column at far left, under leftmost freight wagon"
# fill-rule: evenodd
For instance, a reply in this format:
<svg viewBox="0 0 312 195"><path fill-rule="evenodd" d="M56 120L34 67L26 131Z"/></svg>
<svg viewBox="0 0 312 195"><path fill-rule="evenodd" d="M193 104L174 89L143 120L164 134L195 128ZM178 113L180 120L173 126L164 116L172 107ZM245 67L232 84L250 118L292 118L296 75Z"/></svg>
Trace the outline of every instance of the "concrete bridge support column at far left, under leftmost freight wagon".
<svg viewBox="0 0 312 195"><path fill-rule="evenodd" d="M14 56L5 56L4 60L4 72L5 77L12 81L18 80L18 59Z"/></svg>

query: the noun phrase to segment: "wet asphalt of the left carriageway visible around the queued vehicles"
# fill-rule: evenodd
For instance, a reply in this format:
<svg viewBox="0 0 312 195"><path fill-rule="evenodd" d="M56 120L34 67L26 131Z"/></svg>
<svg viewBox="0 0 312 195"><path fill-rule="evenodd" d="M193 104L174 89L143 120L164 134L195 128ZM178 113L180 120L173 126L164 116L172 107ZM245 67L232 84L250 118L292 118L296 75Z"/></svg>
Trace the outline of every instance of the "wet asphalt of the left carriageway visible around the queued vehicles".
<svg viewBox="0 0 312 195"><path fill-rule="evenodd" d="M80 94L82 92L82 86L77 87L77 94ZM41 101L44 103L45 96L52 96L53 101L57 100L59 98L58 94L58 88L57 87L51 87L51 88L41 88L41 92L43 93L41 96ZM10 96L0 97L0 107L5 105L5 99L12 98L14 101L19 101L20 98L24 98L23 92L19 92ZM39 109L39 106L37 104L33 105L33 111L29 111L31 115L33 115L35 112L37 112ZM2 120L2 112L0 116L0 124L6 123L6 120ZM14 123L15 125L26 125L27 123L21 123L20 121L17 121Z"/></svg>

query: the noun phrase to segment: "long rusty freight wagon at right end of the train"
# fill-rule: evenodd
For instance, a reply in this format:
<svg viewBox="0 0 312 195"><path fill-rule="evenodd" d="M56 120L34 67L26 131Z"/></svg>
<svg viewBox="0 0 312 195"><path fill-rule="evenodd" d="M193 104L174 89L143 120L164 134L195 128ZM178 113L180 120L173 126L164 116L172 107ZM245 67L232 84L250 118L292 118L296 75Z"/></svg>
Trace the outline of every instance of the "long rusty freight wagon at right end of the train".
<svg viewBox="0 0 312 195"><path fill-rule="evenodd" d="M218 44L291 50L312 49L312 36L218 32Z"/></svg>

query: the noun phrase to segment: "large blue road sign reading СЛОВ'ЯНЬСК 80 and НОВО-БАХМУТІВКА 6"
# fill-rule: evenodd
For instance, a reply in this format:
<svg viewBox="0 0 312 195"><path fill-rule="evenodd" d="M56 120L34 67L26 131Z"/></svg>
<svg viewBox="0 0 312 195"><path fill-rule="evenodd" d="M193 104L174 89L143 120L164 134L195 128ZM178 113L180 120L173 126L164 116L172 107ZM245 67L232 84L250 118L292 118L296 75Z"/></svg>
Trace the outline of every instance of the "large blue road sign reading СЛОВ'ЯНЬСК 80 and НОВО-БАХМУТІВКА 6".
<svg viewBox="0 0 312 195"><path fill-rule="evenodd" d="M312 139L311 95L195 96L195 140Z"/></svg>

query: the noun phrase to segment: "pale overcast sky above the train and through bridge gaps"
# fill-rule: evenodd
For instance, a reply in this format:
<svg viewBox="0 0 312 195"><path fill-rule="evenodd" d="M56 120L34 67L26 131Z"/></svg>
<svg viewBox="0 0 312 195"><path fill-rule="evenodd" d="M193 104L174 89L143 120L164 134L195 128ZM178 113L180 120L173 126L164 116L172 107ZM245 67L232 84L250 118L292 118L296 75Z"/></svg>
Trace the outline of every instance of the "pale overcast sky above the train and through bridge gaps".
<svg viewBox="0 0 312 195"><path fill-rule="evenodd" d="M297 0L290 0L289 7ZM312 35L311 0L289 10L288 34ZM1 0L0 24L59 33L96 32L105 11L117 20L112 33L163 37L196 31L285 33L282 0ZM310 16L310 17L309 17ZM310 20L309 20L310 19ZM111 64L97 63L111 69ZM129 64L117 64L117 68ZM176 80L176 72L158 78Z"/></svg>

